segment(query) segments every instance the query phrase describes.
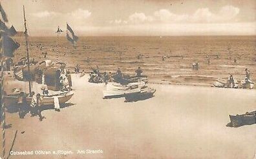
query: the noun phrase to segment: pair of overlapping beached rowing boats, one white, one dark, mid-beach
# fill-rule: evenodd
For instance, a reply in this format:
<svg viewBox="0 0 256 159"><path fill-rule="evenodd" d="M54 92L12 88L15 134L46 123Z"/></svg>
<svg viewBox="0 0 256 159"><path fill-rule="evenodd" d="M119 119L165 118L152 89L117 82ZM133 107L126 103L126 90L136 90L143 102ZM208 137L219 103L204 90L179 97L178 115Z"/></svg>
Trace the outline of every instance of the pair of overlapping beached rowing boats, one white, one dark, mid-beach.
<svg viewBox="0 0 256 159"><path fill-rule="evenodd" d="M136 102L153 97L156 89L146 86L144 81L131 82L129 84L120 84L109 82L103 90L104 98L125 97L125 102Z"/></svg>

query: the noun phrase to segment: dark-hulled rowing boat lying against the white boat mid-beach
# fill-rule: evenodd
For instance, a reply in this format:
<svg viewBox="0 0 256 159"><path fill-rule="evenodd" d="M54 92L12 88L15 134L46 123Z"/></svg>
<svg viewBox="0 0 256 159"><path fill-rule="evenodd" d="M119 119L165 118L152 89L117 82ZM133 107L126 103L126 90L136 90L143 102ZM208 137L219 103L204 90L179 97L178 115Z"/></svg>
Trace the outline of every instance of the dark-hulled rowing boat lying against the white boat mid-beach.
<svg viewBox="0 0 256 159"><path fill-rule="evenodd" d="M125 102L136 102L138 100L145 100L153 97L156 89L144 88L140 92L125 94Z"/></svg>

